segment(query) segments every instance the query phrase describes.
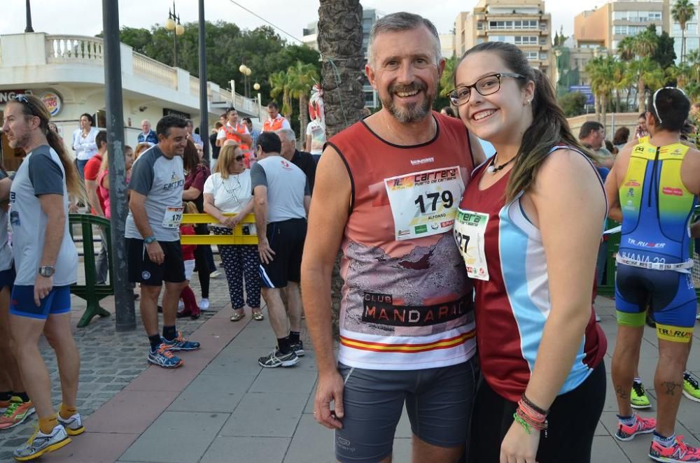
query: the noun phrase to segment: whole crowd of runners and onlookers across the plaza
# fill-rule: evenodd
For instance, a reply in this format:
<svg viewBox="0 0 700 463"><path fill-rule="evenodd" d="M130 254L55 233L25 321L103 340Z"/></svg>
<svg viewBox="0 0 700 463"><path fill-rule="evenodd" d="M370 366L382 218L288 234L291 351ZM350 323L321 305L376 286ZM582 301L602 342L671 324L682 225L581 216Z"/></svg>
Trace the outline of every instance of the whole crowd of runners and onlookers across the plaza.
<svg viewBox="0 0 700 463"><path fill-rule="evenodd" d="M201 347L177 320L209 309L217 269L210 245L183 245L181 236L240 227L258 244L218 245L230 320L244 319L246 306L255 321L267 315L276 346L258 364L276 368L304 356L306 315L318 367L314 418L335 429L338 461L391 462L405 406L414 461L590 462L608 386L608 341L591 293L594 301L601 273L616 271L615 437L653 434L653 460L700 462L674 428L682 395L700 402L686 367L697 311L689 240L700 237L700 222L690 224L700 104L661 88L634 134L621 127L608 142L598 122L573 135L549 80L514 45L468 50L440 113L432 107L445 62L429 20L381 17L368 54L381 110L328 141L322 120L312 120L300 134L306 150L274 101L261 129L235 108L221 115L211 162L191 120L141 123L138 145L123 150L129 213L125 236L113 239L126 240L148 362L177 368L183 352ZM27 155L13 179L0 169L0 201L10 206L0 208L0 429L38 418L15 450L19 461L85 431L67 214L80 202L111 217L107 134L93 125L80 117L73 161L41 100L19 95L5 111L3 133ZM481 141L496 154L486 159ZM183 224L186 213L211 223ZM607 218L622 224L617 269L599 259ZM98 284L110 278L109 248L102 234ZM633 413L651 406L637 371L645 322L658 336L655 419ZM41 334L57 355L57 412Z"/></svg>

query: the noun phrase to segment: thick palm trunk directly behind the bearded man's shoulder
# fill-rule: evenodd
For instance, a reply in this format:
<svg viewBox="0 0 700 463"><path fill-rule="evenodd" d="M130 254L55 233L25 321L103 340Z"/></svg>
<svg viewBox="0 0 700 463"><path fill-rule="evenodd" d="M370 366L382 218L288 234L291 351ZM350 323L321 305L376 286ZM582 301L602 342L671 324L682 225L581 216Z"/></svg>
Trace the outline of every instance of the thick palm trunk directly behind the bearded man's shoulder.
<svg viewBox="0 0 700 463"><path fill-rule="evenodd" d="M318 50L323 59L321 85L325 127L328 136L333 136L360 120L365 107L362 6L360 0L320 2Z"/></svg>

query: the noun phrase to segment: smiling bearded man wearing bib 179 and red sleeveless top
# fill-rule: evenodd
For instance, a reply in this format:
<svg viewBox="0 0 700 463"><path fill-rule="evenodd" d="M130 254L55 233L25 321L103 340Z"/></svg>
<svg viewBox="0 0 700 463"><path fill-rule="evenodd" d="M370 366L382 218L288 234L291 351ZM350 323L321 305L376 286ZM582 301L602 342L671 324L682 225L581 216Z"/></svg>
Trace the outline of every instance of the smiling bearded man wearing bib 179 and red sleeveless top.
<svg viewBox="0 0 700 463"><path fill-rule="evenodd" d="M318 364L314 416L335 429L340 462L391 461L404 404L413 461L454 462L464 450L478 371L472 284L452 228L483 152L460 120L430 111L443 70L433 23L382 17L365 72L383 108L333 136L318 164L302 287Z"/></svg>

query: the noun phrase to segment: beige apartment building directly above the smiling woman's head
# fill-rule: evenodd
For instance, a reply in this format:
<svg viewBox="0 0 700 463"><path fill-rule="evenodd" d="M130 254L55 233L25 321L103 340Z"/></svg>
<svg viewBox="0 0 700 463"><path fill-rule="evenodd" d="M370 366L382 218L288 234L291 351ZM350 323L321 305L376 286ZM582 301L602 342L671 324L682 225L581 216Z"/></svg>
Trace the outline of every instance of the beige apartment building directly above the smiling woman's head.
<svg viewBox="0 0 700 463"><path fill-rule="evenodd" d="M543 0L479 0L472 11L457 15L454 28L457 55L485 41L512 43L531 66L554 78L552 17Z"/></svg>

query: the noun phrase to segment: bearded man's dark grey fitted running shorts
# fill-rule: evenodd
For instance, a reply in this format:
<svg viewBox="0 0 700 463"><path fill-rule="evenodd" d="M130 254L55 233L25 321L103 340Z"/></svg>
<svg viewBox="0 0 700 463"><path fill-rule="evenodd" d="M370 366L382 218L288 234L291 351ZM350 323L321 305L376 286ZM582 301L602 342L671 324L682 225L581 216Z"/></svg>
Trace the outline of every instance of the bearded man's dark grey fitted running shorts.
<svg viewBox="0 0 700 463"><path fill-rule="evenodd" d="M379 462L391 455L406 404L411 430L421 441L459 447L467 440L479 378L476 358L423 370L367 370L342 363L343 428L335 431L339 462Z"/></svg>

